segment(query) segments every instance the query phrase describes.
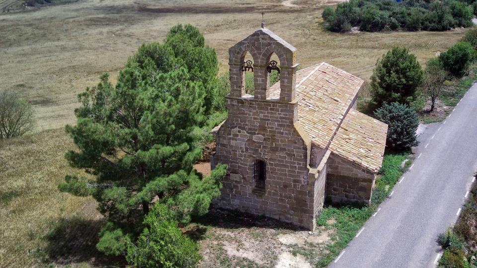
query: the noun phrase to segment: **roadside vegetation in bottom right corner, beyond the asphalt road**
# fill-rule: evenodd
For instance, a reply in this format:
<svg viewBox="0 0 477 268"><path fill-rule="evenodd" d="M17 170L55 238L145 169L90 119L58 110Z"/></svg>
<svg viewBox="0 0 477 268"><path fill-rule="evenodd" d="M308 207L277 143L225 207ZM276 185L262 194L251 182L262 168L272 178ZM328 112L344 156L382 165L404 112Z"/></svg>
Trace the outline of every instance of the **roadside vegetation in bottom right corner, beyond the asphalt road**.
<svg viewBox="0 0 477 268"><path fill-rule="evenodd" d="M477 267L477 183L474 183L457 223L439 234L437 243L444 250L438 267Z"/></svg>

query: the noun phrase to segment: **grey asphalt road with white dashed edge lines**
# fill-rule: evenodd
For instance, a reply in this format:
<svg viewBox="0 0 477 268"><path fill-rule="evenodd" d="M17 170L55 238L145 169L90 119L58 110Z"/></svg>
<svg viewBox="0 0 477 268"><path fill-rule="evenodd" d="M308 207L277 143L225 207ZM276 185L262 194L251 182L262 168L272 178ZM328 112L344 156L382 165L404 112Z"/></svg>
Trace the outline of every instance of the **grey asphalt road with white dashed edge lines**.
<svg viewBox="0 0 477 268"><path fill-rule="evenodd" d="M391 197L329 267L435 267L439 233L454 224L477 165L477 84L431 124Z"/></svg>

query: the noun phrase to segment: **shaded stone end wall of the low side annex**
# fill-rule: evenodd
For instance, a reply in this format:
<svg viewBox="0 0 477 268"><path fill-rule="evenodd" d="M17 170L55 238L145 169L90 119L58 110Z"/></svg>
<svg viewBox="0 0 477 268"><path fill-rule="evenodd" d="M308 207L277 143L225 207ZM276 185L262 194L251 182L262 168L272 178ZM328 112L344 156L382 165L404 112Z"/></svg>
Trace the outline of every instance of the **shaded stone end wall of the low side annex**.
<svg viewBox="0 0 477 268"><path fill-rule="evenodd" d="M326 200L332 203L368 204L375 178L375 173L332 153L328 158Z"/></svg>

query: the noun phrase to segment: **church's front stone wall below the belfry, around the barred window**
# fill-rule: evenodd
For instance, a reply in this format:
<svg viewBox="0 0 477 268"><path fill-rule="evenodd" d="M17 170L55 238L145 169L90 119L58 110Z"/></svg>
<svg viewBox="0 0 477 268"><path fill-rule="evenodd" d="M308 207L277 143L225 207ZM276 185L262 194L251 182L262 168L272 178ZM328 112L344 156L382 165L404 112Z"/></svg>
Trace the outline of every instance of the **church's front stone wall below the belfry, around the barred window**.
<svg viewBox="0 0 477 268"><path fill-rule="evenodd" d="M229 168L216 205L314 229L315 181L308 181L309 148L294 127L296 105L227 97L213 162ZM266 163L264 191L254 187L256 159Z"/></svg>

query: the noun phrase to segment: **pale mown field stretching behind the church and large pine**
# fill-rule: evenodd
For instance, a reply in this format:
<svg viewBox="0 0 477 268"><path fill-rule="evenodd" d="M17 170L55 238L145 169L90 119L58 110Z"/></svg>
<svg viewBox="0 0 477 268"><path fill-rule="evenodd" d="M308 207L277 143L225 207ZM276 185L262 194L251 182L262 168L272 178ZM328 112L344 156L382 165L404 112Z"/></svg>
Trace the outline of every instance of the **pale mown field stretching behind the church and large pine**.
<svg viewBox="0 0 477 268"><path fill-rule="evenodd" d="M266 26L298 48L302 67L325 61L364 79L393 46L408 47L424 63L463 33L330 33L320 25L324 1L293 3L300 6L277 0L78 0L0 13L0 88L26 97L38 130L47 130L74 123L77 93L103 72L114 79L141 43L161 41L177 23L199 27L225 71L228 48L257 29L265 11Z"/></svg>

